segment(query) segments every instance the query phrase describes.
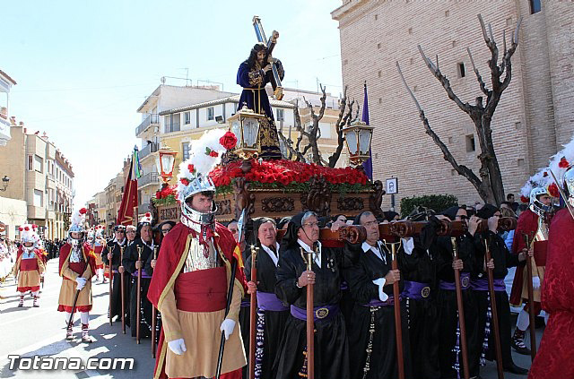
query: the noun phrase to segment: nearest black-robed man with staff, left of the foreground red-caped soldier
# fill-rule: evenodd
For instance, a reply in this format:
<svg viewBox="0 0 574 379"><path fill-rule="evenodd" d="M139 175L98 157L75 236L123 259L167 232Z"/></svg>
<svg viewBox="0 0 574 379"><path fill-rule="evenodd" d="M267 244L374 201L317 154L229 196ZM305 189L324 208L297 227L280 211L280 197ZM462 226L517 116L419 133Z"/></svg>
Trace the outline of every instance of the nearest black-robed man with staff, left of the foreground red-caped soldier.
<svg viewBox="0 0 574 379"><path fill-rule="evenodd" d="M153 257L153 235L152 235L152 213L147 212L137 224L138 235L132 245L129 245L124 252L124 260L122 266L118 271L121 273L125 271L127 275L131 275L131 293L130 293L130 329L132 337L137 333L137 278L138 271L144 268L150 257ZM152 276L147 272L142 271L142 279L140 282L140 337L146 338L152 332L152 303L147 299L147 291L150 287L150 280Z"/></svg>

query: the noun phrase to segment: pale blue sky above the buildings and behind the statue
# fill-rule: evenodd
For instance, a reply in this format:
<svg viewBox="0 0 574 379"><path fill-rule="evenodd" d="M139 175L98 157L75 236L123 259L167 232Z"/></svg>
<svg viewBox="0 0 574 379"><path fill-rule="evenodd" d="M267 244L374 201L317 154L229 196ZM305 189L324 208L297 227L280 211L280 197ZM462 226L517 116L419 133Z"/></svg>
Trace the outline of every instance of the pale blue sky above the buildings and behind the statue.
<svg viewBox="0 0 574 379"><path fill-rule="evenodd" d="M161 76L235 84L257 14L285 87L341 92L339 0L3 1L0 69L18 82L10 113L46 131L74 166L75 206L101 191L134 144L136 109ZM186 70L187 68L187 70ZM185 81L169 80L184 85ZM201 82L204 83L204 82Z"/></svg>

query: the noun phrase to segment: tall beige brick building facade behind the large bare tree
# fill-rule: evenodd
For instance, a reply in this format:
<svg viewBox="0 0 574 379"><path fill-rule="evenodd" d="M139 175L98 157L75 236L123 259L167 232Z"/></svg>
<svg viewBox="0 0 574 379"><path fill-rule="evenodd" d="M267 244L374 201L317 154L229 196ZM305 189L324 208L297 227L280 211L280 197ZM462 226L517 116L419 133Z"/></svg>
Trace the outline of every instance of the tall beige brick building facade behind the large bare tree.
<svg viewBox="0 0 574 379"><path fill-rule="evenodd" d="M396 70L421 103L434 131L459 164L477 173L480 153L471 119L424 65L417 45L435 60L463 101L481 96L466 52L488 83L486 47L477 19L491 23L500 50L523 17L519 45L512 58L512 82L492 120L493 140L506 193L517 193L526 179L547 164L574 132L574 2L567 0L344 0L331 13L339 22L344 85L362 99L369 89L374 177L394 176L399 197L455 194L461 203L480 200L474 187L442 157L424 133L417 109ZM500 56L502 53L500 53ZM499 61L500 62L500 61ZM478 173L477 173L478 174ZM387 196L386 196L387 197ZM385 199L384 207L389 206Z"/></svg>

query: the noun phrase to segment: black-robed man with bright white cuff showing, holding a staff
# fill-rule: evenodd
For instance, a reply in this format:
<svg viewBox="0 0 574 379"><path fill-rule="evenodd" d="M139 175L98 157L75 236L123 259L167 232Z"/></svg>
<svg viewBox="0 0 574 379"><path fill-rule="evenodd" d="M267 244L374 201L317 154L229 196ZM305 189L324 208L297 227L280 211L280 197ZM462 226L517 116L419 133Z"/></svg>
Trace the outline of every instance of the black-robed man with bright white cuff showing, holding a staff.
<svg viewBox="0 0 574 379"><path fill-rule="evenodd" d="M352 379L396 378L395 299L393 283L403 289L399 270L392 270L392 256L379 240L378 220L370 211L363 211L355 220L367 230L361 245L358 263L345 269L344 277L355 301L352 316L347 320ZM411 353L408 323L401 301L404 377L411 378Z"/></svg>

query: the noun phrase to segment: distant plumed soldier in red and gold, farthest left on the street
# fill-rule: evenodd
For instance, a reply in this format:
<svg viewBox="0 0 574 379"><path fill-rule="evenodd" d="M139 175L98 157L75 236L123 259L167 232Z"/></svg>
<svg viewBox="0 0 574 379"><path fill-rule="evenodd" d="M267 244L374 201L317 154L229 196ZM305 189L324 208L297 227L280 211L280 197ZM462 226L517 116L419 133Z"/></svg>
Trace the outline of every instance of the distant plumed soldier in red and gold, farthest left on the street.
<svg viewBox="0 0 574 379"><path fill-rule="evenodd" d="M13 267L14 278L18 278L16 290L20 292L18 307L24 306L24 295L28 291L31 291L34 297L32 306L37 307L39 306L40 276L46 270L46 265L41 258L38 249L39 239L32 225L22 225L19 230L22 245L18 248L16 263Z"/></svg>

